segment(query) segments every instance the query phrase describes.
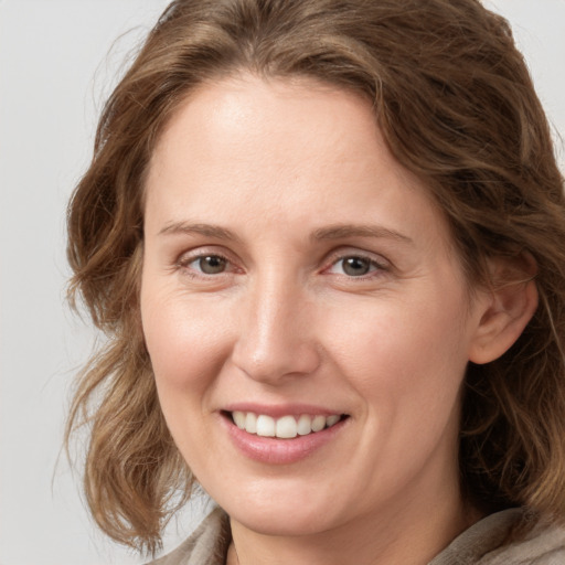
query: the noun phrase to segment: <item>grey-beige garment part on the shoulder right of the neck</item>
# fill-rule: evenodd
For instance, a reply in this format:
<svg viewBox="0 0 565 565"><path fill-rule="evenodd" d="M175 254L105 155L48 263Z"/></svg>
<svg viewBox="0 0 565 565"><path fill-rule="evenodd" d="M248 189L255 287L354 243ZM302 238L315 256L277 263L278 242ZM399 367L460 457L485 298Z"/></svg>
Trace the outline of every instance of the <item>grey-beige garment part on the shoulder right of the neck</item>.
<svg viewBox="0 0 565 565"><path fill-rule="evenodd" d="M429 565L563 565L565 529L524 509L498 512L456 537Z"/></svg>

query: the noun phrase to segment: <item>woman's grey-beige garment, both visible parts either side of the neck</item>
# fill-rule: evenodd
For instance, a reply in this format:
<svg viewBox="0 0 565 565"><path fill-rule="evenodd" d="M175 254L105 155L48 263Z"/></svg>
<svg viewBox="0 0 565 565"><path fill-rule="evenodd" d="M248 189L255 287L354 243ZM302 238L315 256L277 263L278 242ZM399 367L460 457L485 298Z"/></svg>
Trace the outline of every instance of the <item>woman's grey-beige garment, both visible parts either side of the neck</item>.
<svg viewBox="0 0 565 565"><path fill-rule="evenodd" d="M224 565L230 541L227 515L216 508L177 550L148 565ZM565 529L504 510L466 530L428 565L565 565Z"/></svg>

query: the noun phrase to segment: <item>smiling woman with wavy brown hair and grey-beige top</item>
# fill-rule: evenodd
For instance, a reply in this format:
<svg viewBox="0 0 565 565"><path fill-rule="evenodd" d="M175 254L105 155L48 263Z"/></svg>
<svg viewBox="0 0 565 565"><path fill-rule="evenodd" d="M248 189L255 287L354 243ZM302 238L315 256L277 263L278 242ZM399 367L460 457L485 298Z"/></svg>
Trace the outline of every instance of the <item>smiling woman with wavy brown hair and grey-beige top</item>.
<svg viewBox="0 0 565 565"><path fill-rule="evenodd" d="M68 228L115 540L154 553L198 482L158 563L565 562L563 180L500 17L175 1Z"/></svg>

